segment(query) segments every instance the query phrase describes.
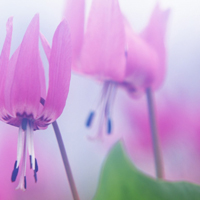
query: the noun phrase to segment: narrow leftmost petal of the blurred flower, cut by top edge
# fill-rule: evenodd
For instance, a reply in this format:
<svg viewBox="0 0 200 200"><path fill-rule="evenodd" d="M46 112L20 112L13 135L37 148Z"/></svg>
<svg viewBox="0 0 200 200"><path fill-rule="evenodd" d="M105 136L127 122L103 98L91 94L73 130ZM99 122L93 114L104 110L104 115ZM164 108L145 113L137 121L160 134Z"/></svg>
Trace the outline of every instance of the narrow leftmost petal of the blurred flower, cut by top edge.
<svg viewBox="0 0 200 200"><path fill-rule="evenodd" d="M79 59L84 36L85 0L67 0L64 17L71 32L72 69L80 71Z"/></svg>

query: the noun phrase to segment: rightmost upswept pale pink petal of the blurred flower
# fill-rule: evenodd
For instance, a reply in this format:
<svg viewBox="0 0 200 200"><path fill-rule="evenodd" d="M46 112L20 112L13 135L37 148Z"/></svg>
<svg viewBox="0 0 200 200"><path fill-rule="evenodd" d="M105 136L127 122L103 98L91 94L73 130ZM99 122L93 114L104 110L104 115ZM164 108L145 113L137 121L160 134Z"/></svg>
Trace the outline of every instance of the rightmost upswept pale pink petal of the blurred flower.
<svg viewBox="0 0 200 200"><path fill-rule="evenodd" d="M166 26L169 18L170 10L162 11L157 4L152 16L150 18L148 26L142 32L142 38L155 49L159 57L159 76L156 79L155 86L159 86L166 74L166 48L165 48L165 35Z"/></svg>

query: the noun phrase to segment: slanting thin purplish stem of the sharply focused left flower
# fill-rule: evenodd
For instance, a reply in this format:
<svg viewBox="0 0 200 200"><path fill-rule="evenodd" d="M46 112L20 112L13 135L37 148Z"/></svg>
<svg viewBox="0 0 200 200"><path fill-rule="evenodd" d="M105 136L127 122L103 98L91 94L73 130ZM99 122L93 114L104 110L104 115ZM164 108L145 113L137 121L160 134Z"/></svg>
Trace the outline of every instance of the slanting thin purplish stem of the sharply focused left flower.
<svg viewBox="0 0 200 200"><path fill-rule="evenodd" d="M67 157L67 153L65 151L64 143L63 143L62 136L61 136L57 122L56 121L53 122L52 126L53 126L53 129L54 129L55 135L56 135L58 146L60 148L60 153L61 153L61 156L62 156L62 159L63 159L65 171L66 171L66 174L67 174L67 177L68 177L68 180L69 180L69 184L70 184L70 188L71 188L71 191L72 191L73 198L74 198L74 200L79 200L76 185L75 185L74 178L72 176L72 171L71 171L71 168L70 168L70 165L69 165L69 160L68 160L68 157Z"/></svg>

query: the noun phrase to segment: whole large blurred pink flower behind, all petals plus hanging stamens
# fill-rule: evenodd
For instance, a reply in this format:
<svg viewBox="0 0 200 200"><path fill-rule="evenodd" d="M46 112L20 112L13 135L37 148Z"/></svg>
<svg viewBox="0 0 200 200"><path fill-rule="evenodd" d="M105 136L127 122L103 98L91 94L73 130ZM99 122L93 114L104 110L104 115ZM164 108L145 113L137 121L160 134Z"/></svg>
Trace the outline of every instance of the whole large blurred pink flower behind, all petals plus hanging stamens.
<svg viewBox="0 0 200 200"><path fill-rule="evenodd" d="M157 82L160 71L164 71L160 68L165 63L166 19L156 6L149 25L138 35L125 20L117 0L93 0L84 34L83 25L79 26L80 23L84 24L84 6L77 6L79 1L68 0L65 12L71 32L77 37L77 40L72 41L72 46L76 47L73 51L73 59L76 60L73 61L72 69L103 82L100 103L97 105L103 107L99 133L105 122L107 133L111 133L111 111L116 88L125 87L136 96L139 91ZM71 9L76 10L76 13L70 12ZM78 41L81 41L82 46ZM92 111L86 122L88 127L94 115Z"/></svg>

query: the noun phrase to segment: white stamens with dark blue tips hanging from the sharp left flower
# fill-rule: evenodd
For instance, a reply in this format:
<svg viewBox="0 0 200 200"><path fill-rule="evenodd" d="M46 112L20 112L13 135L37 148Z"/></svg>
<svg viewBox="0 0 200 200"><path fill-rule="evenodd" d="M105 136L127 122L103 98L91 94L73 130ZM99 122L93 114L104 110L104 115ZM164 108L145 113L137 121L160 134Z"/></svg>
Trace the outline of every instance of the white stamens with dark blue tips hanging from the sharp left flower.
<svg viewBox="0 0 200 200"><path fill-rule="evenodd" d="M14 169L11 176L11 181L15 182L20 170L19 184L16 189L26 190L26 161L27 151L30 158L30 168L33 170L35 182L37 182L38 164L35 158L34 141L33 141L33 122L27 118L23 118L19 126L18 144L17 144L17 160L14 163Z"/></svg>

